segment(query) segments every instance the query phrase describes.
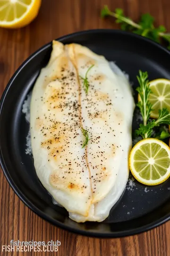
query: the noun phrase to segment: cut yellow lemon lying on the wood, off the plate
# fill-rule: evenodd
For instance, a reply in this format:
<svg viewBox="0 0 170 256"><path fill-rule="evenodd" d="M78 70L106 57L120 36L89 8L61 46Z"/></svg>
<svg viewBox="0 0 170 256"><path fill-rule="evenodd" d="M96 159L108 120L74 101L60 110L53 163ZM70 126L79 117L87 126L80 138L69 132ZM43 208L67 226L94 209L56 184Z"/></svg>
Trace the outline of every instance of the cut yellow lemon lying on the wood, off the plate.
<svg viewBox="0 0 170 256"><path fill-rule="evenodd" d="M0 0L0 27L26 26L37 16L40 6L41 0Z"/></svg>

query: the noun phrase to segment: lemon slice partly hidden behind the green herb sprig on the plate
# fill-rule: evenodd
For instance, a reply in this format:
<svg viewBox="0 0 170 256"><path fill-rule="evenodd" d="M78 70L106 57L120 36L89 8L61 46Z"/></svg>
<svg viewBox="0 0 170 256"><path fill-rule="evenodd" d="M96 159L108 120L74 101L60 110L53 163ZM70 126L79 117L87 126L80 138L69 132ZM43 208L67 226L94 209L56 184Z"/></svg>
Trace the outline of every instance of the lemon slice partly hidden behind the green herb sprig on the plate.
<svg viewBox="0 0 170 256"><path fill-rule="evenodd" d="M157 119L159 116L158 110L167 108L170 111L170 80L160 78L149 82L149 84L152 91L149 101L153 105L151 118ZM138 101L140 101L139 94Z"/></svg>

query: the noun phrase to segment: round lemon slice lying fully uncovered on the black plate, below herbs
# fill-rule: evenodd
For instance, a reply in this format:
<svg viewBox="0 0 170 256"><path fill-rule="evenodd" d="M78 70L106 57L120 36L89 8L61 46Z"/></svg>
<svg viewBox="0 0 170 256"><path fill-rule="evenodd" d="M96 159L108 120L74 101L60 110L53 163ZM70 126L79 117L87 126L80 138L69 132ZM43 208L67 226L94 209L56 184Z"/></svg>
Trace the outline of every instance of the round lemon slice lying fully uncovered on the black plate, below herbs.
<svg viewBox="0 0 170 256"><path fill-rule="evenodd" d="M132 148L129 165L138 182L158 185L170 176L170 148L161 140L143 139Z"/></svg>

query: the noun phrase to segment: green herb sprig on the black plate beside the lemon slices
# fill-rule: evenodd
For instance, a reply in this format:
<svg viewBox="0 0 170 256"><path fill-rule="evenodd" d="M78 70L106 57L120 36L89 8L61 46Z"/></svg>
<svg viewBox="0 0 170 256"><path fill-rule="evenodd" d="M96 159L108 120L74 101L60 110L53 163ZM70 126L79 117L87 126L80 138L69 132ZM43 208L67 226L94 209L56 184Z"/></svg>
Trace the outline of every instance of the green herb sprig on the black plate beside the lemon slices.
<svg viewBox="0 0 170 256"><path fill-rule="evenodd" d="M151 90L149 88L147 72L139 71L139 76L137 76L137 79L139 82L139 87L137 87L136 91L138 91L140 95L140 101L136 104L136 106L141 111L144 123L140 124L140 128L136 130L136 135L142 136L143 138L148 138L151 137L154 127L160 126L161 124L170 125L170 111L167 109L159 110L158 119L148 121L152 111L152 104L148 100ZM165 137L165 134L162 134L162 137Z"/></svg>

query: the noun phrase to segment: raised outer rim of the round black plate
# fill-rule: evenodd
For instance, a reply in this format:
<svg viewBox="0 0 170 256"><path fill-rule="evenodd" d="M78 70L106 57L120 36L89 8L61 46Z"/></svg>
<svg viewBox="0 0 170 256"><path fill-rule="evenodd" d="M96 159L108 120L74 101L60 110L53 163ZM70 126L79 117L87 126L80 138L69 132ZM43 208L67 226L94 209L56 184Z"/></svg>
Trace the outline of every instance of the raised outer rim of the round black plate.
<svg viewBox="0 0 170 256"><path fill-rule="evenodd" d="M84 31L79 31L79 32L75 32L75 33L71 33L62 37L59 37L55 40L58 41L62 41L64 39L71 39L71 37L73 36L82 36L84 34L91 34L91 33L113 33L113 34L124 34L125 36L131 36L131 37L137 37L140 40L149 42L150 44L153 44L154 46L159 47L161 50L163 50L164 52L166 52L168 55L170 55L170 51L167 50L165 47L161 46L160 44L146 38L146 37L142 37L130 32L125 32L122 30L118 30L118 29L91 29L91 30L84 30ZM3 102L5 101L5 97L6 94L8 93L8 90L10 89L10 87L12 86L13 81L15 80L16 76L22 71L22 69L25 67L25 65L30 62L32 60L32 58L34 58L34 56L38 55L39 53L41 53L44 49L48 48L51 46L52 42L49 42L47 44L45 44L44 46L40 47L38 50L36 50L33 54L31 54L16 70L16 72L13 74L13 76L11 77L11 79L9 80L4 92L2 93L1 99L0 99L0 114L3 108ZM13 180L11 179L11 176L8 172L8 169L6 168L5 162L3 160L2 157L2 153L1 153L1 146L0 146L0 166L2 168L3 174L5 175L10 187L13 189L13 191L17 194L17 196L19 197L19 199L21 201L23 201L24 204L26 204L26 206L34 211L35 214L37 214L39 217L41 217L42 219L45 219L46 221L50 222L52 225L55 225L61 229L67 230L69 232L73 232L79 235L84 235L84 236L88 236L88 237L96 237L96 238L120 238L120 237L126 237L126 236L131 236L131 235L136 235L145 231L148 231L150 229L156 228L158 226L160 226L161 224L165 223L166 221L170 220L170 213L167 214L166 216L157 219L156 221L151 222L148 225L142 226L140 228L136 228L136 229L128 229L125 231L121 231L121 232L104 232L104 233L99 233L99 232L93 232L93 231L84 231L84 230L80 230L80 229L76 229L76 228L71 228L66 224L62 224L61 222L59 222L58 220L54 220L52 221L51 218L48 217L48 215L46 215L45 213L43 213L41 210L39 210L37 207L35 207L28 199L27 197L17 188L17 185L13 182Z"/></svg>

